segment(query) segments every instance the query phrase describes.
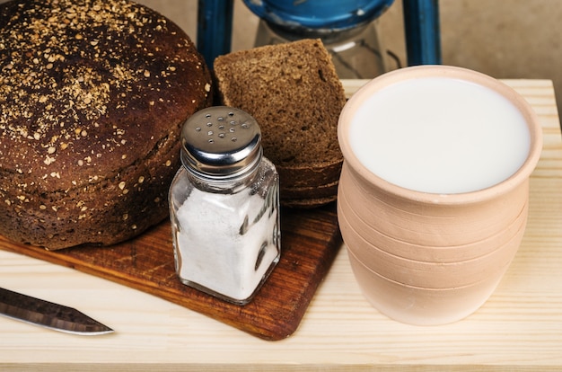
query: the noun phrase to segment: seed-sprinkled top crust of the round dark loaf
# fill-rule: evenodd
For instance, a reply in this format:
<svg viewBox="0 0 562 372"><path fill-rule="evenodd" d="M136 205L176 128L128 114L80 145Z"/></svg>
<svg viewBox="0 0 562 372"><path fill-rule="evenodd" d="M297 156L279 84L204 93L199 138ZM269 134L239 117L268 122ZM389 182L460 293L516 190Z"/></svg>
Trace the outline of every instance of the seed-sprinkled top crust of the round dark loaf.
<svg viewBox="0 0 562 372"><path fill-rule="evenodd" d="M193 43L145 6L0 4L0 173L27 192L119 174L206 106L209 92Z"/></svg>

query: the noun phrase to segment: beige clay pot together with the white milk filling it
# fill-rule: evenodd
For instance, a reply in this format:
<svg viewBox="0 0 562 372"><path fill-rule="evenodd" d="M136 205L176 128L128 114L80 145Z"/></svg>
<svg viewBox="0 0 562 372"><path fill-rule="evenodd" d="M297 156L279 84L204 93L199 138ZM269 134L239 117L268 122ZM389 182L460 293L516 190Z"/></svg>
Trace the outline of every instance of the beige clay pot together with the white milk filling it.
<svg viewBox="0 0 562 372"><path fill-rule="evenodd" d="M495 290L527 220L536 114L453 66L379 76L338 123L338 222L365 297L404 323L452 323Z"/></svg>

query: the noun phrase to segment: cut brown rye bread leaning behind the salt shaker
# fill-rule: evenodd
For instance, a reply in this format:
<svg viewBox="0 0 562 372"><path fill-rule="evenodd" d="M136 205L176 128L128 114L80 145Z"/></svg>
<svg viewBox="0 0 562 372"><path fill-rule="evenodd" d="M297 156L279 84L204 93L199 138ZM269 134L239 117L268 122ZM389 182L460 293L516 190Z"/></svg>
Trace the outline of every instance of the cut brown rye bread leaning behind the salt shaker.
<svg viewBox="0 0 562 372"><path fill-rule="evenodd" d="M222 104L258 120L282 199L293 188L310 188L309 198L318 199L315 187L338 182L338 117L346 96L321 40L241 50L216 58L214 66Z"/></svg>

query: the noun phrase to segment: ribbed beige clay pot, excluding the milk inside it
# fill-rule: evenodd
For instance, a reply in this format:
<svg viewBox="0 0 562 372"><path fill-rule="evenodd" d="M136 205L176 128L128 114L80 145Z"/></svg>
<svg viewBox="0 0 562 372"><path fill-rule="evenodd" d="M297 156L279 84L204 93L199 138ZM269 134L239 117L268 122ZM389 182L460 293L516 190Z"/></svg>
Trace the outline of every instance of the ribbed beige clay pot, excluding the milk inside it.
<svg viewBox="0 0 562 372"><path fill-rule="evenodd" d="M358 160L348 135L354 113L386 86L425 76L480 84L514 104L528 126L531 146L513 175L480 190L431 193L387 182ZM376 112L373 116L376 120ZM451 323L482 306L524 235L529 177L542 149L540 125L529 104L505 84L474 71L408 67L373 79L347 102L338 140L345 159L338 220L364 296L383 314L415 324Z"/></svg>

